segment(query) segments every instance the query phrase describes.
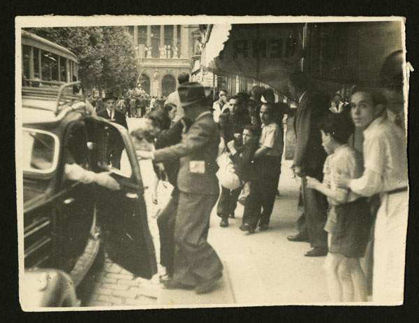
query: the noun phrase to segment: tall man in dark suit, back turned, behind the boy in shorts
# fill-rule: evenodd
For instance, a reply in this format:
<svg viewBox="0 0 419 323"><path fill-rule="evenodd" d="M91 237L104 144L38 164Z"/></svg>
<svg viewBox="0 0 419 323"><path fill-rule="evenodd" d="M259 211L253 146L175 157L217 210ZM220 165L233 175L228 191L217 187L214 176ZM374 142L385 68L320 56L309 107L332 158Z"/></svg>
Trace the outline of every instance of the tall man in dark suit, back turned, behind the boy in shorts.
<svg viewBox="0 0 419 323"><path fill-rule="evenodd" d="M329 100L319 94L307 91L307 78L301 72L291 74L288 79L288 89L293 99L298 103L294 119L297 143L293 168L295 175L302 178L304 220L307 224L309 242L313 248L306 252L305 256L321 257L328 253L327 234L324 230L328 201L320 192L307 188L305 176L309 175L319 181L323 180L326 152L321 145L321 134L317 124L325 113L328 113ZM295 237L288 237L288 240L298 241Z"/></svg>

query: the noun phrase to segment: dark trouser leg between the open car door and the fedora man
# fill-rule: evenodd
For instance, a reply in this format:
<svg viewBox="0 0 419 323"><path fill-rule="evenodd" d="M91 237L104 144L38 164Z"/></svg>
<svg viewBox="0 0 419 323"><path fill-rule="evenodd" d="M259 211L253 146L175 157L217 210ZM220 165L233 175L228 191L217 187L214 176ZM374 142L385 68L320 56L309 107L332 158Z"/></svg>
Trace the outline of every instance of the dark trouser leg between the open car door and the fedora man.
<svg viewBox="0 0 419 323"><path fill-rule="evenodd" d="M157 217L160 236L160 264L166 267L166 273L173 275L175 259L175 222L179 189L175 187L166 207Z"/></svg>

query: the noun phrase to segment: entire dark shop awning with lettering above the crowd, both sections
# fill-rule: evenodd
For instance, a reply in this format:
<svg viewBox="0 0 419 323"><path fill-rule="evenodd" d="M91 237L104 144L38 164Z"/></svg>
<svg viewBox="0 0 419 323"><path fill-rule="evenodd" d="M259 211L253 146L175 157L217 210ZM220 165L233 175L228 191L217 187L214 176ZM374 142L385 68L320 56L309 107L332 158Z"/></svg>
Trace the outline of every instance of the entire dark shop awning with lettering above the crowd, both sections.
<svg viewBox="0 0 419 323"><path fill-rule="evenodd" d="M287 78L304 72L313 87L332 91L342 85L377 85L385 58L402 49L402 22L311 22L214 24L201 68L254 78L288 94Z"/></svg>

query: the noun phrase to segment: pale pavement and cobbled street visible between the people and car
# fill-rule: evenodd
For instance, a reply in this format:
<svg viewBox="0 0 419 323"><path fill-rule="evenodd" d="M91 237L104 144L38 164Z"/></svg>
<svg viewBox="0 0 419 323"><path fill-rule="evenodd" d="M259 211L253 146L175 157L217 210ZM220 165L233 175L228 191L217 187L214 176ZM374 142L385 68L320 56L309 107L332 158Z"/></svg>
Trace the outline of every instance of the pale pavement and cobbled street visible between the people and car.
<svg viewBox="0 0 419 323"><path fill-rule="evenodd" d="M134 118L129 118L128 127L131 129L135 127L136 121ZM126 155L123 155L123 168L127 162ZM323 272L325 257L304 257L304 252L309 250L309 244L292 243L286 239L286 236L296 233L299 188L293 179L290 166L291 161L283 161L279 181L281 195L276 198L269 230L256 231L253 235L240 231L243 213L243 206L240 203L237 205L235 219L229 220L228 228L219 227L220 218L216 216L214 210L211 215L208 241L227 267L225 276L227 273L228 277L224 278L224 283L228 280L235 304L267 305L328 301ZM168 201L172 187L168 182L164 184L160 182L159 203L154 205L150 189L153 178L151 161L140 161L140 167L145 187L148 187L145 190L145 201L149 228L159 263L159 230L155 215ZM169 305L164 303L165 290L159 291L159 274L164 273L160 265L159 272L152 280L135 278L117 264L105 259L103 268L94 273L94 283L87 306ZM171 292L170 297L170 305L183 305L188 299L182 296L182 291L174 294ZM187 302L190 302L190 299Z"/></svg>

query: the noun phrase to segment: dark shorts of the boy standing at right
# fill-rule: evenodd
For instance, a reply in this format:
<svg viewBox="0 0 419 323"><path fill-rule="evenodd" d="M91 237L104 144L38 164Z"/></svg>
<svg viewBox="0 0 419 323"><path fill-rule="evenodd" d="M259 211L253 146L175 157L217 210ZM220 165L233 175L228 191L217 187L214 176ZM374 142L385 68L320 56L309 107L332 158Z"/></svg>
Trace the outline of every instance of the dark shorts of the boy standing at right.
<svg viewBox="0 0 419 323"><path fill-rule="evenodd" d="M329 251L346 257L364 257L372 226L367 199L335 206L335 212L337 221L331 232Z"/></svg>

